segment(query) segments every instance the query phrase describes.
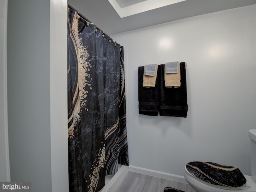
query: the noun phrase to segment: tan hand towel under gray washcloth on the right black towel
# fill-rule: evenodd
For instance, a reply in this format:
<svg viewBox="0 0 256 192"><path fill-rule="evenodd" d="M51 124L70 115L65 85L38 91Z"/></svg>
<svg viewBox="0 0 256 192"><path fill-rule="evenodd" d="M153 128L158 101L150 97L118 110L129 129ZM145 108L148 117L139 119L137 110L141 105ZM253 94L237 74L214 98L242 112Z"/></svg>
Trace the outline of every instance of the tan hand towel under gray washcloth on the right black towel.
<svg viewBox="0 0 256 192"><path fill-rule="evenodd" d="M180 87L180 62L178 62L178 73L166 73L166 64L164 65L164 84L167 88Z"/></svg>

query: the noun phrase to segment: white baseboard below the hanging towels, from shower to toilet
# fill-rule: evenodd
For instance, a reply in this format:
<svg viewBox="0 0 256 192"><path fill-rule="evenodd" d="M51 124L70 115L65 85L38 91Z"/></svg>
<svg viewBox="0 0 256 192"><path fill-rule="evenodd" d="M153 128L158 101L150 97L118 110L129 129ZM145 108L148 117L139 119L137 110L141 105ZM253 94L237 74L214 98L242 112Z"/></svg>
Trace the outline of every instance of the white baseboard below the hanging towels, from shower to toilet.
<svg viewBox="0 0 256 192"><path fill-rule="evenodd" d="M150 170L150 169L136 167L136 166L129 166L129 171L188 184L184 176L180 176L180 175L174 175L170 173Z"/></svg>

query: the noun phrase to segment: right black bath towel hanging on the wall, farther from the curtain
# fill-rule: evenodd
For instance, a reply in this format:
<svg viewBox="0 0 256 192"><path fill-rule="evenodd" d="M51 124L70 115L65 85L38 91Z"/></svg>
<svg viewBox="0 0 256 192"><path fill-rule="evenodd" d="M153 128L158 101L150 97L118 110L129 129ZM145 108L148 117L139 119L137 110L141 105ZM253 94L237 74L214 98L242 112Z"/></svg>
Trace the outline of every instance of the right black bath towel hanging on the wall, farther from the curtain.
<svg viewBox="0 0 256 192"><path fill-rule="evenodd" d="M186 85L186 67L185 62L180 63L180 87L166 88L164 85L164 65L158 66L161 74L160 80L160 116L187 117L187 85Z"/></svg>

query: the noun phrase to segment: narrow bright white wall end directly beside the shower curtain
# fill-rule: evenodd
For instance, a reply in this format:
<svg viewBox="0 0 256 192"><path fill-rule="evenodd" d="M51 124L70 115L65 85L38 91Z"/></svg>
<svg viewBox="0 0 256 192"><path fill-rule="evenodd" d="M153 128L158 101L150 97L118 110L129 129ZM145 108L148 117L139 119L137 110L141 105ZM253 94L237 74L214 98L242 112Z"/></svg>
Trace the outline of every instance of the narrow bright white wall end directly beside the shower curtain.
<svg viewBox="0 0 256 192"><path fill-rule="evenodd" d="M52 192L68 192L67 0L50 0Z"/></svg>

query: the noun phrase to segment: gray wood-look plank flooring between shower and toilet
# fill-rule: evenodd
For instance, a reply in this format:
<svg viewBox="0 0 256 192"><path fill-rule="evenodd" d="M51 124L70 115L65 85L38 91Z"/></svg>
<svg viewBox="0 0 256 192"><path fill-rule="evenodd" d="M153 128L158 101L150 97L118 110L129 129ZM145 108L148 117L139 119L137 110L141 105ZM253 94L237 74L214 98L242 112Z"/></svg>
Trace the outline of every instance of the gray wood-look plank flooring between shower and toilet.
<svg viewBox="0 0 256 192"><path fill-rule="evenodd" d="M128 172L116 192L164 192L165 187L176 188L185 192L196 192L190 185Z"/></svg>

